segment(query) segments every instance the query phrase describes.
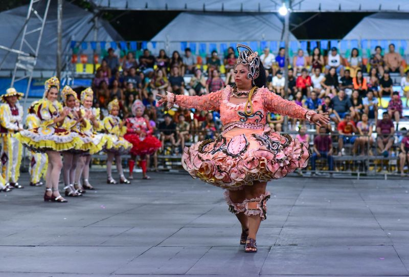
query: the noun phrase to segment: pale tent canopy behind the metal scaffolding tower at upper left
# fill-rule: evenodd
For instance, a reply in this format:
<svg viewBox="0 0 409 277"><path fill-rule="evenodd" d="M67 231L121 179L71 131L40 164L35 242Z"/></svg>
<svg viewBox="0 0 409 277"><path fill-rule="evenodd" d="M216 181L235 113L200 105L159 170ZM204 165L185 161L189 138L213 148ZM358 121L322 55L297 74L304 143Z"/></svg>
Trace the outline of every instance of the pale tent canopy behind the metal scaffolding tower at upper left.
<svg viewBox="0 0 409 277"><path fill-rule="evenodd" d="M44 1L40 4L45 4ZM37 10L44 10L43 7L38 7ZM12 10L0 13L0 45L11 47L15 36L24 25L28 11L28 5L21 6ZM87 12L68 2L63 3L62 13L62 45L63 48L69 47L70 41L81 40L85 36L85 40L94 40L93 28L93 13ZM34 30L40 27L40 21L31 19L27 30ZM91 30L91 31L90 31ZM99 20L99 29L97 40L121 40L121 36L113 29L105 20ZM26 40L30 44L35 44L37 36L26 36ZM14 44L14 48L20 45L21 36ZM6 51L0 50L0 61L6 55ZM50 4L47 21L44 26L44 31L41 39L40 50L38 53L37 64L35 70L51 70L56 68L57 60L57 1L52 1ZM16 54L9 54L5 63L2 65L2 70L12 70L16 62Z"/></svg>

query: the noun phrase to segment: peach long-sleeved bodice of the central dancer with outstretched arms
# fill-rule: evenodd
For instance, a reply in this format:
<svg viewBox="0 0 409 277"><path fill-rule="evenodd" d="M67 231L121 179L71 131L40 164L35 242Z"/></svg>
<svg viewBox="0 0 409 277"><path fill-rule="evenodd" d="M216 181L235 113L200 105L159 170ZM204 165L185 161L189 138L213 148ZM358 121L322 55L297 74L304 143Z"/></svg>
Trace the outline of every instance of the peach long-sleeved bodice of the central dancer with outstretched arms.
<svg viewBox="0 0 409 277"><path fill-rule="evenodd" d="M312 115L314 111L309 111L294 102L285 100L275 93L271 93L267 88L258 88L253 95L253 113L245 113L246 102L234 104L229 101L232 88L228 85L222 90L215 91L203 96L176 95L174 104L186 108L199 110L219 110L220 120L224 126L224 132L234 127L246 129L262 129L266 123L268 112L282 114L297 119L306 118L307 113ZM168 101L173 101L173 94L168 95ZM245 99L244 99L245 100ZM250 105L247 105L250 110Z"/></svg>

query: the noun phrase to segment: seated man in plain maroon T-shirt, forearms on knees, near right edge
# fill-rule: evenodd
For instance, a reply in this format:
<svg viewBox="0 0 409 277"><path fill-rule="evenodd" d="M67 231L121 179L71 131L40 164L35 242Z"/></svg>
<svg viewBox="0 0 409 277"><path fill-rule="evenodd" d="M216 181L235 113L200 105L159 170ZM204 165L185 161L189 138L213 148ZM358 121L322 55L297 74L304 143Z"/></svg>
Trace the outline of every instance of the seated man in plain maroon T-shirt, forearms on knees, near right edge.
<svg viewBox="0 0 409 277"><path fill-rule="evenodd" d="M380 153L382 153L383 156L388 157L388 151L391 149L394 142L395 126L387 111L383 112L382 120L379 120L376 124L376 133L378 134L376 141Z"/></svg>

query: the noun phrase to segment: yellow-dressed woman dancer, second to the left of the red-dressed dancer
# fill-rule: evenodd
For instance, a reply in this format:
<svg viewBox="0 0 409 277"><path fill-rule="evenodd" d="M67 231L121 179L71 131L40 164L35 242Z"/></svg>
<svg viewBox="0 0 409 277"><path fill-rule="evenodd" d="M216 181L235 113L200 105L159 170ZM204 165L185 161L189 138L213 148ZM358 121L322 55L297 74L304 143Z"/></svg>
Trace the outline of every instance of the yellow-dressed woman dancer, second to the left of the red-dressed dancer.
<svg viewBox="0 0 409 277"><path fill-rule="evenodd" d="M74 188L80 191L84 191L84 189L94 190L94 187L89 183L89 167L92 158L91 155L101 152L105 147L105 144L107 143L107 136L102 133L97 133L97 131L103 129L103 125L100 120L100 109L93 107L93 95L93 90L90 87L81 91L80 110L84 115L84 124L80 126L80 131L85 135L91 137L93 146L89 149L89 153L83 153L77 162ZM111 101L114 100L116 99L113 99Z"/></svg>

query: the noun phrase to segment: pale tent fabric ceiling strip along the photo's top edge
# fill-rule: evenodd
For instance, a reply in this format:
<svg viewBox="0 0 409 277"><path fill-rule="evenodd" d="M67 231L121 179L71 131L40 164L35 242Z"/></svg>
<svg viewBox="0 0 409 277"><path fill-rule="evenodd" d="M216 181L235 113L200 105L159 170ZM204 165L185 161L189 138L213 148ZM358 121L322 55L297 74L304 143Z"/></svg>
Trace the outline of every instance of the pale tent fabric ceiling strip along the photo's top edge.
<svg viewBox="0 0 409 277"><path fill-rule="evenodd" d="M99 9L277 12L282 0L89 0ZM292 0L293 12L409 12L407 0Z"/></svg>

